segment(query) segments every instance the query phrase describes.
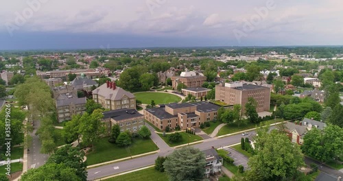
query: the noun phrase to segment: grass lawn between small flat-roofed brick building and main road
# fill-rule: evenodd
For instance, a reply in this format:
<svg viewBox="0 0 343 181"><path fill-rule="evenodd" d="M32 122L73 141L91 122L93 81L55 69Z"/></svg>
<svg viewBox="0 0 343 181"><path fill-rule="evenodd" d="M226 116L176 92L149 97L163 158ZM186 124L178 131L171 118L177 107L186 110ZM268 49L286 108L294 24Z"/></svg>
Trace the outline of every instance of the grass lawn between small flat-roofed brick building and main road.
<svg viewBox="0 0 343 181"><path fill-rule="evenodd" d="M154 152L158 149L155 143L149 139L134 138L130 147L119 147L118 145L108 142L108 137L101 138L98 143L95 143L95 151L87 154L87 164L95 165L100 162L108 162L134 156L138 154L145 154L147 152Z"/></svg>

